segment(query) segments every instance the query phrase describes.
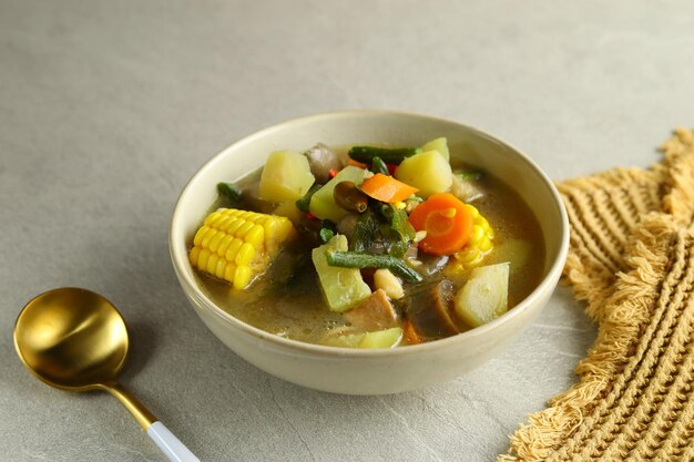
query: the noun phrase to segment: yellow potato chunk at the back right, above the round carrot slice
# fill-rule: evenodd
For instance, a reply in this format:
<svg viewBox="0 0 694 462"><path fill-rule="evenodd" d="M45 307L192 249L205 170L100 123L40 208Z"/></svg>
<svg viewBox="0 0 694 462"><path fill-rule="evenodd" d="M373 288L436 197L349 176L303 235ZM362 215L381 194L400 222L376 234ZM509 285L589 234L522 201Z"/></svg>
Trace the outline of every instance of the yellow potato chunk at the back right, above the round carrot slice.
<svg viewBox="0 0 694 462"><path fill-rule="evenodd" d="M419 189L418 196L448 191L453 183L453 172L448 161L437 151L427 151L406 158L396 168L395 177Z"/></svg>

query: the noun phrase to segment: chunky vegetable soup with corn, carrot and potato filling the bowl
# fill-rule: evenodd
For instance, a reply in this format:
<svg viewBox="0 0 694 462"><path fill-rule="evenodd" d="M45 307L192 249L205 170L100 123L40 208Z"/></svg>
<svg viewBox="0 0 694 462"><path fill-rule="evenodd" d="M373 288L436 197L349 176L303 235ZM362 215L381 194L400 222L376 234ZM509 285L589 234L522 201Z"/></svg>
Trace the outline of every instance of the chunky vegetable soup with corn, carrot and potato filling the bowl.
<svg viewBox="0 0 694 462"><path fill-rule="evenodd" d="M188 247L198 284L277 336L417 345L493 320L542 277L528 205L493 173L451 165L446 138L278 151L216 186Z"/></svg>

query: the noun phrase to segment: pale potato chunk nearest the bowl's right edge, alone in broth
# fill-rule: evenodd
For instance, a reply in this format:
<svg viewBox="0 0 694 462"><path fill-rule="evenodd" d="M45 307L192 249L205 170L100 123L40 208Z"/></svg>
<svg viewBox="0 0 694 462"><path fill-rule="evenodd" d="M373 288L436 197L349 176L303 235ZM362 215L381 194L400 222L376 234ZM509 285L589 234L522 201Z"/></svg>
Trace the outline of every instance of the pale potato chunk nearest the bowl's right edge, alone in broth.
<svg viewBox="0 0 694 462"><path fill-rule="evenodd" d="M456 314L471 327L487 324L508 310L509 263L472 269L470 279L456 294Z"/></svg>

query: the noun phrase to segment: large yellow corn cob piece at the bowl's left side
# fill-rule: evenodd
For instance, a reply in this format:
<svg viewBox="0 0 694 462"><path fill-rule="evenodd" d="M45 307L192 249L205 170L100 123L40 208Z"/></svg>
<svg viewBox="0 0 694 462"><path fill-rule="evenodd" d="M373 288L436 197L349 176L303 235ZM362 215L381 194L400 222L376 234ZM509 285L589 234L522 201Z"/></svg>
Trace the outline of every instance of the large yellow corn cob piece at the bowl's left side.
<svg viewBox="0 0 694 462"><path fill-rule="evenodd" d="M220 208L211 213L193 238L191 264L243 289L262 274L282 244L293 238L288 218Z"/></svg>

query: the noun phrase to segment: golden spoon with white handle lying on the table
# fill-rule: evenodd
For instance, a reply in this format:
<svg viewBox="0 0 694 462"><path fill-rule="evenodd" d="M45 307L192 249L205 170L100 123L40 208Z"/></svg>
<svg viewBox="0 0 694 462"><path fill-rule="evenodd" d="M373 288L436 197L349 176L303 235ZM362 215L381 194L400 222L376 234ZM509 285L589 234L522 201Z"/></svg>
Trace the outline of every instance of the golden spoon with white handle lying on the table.
<svg viewBox="0 0 694 462"><path fill-rule="evenodd" d="M125 321L99 294L63 287L29 301L14 325L14 347L24 366L51 387L105 390L130 411L174 462L200 460L125 390L116 378L127 355Z"/></svg>

